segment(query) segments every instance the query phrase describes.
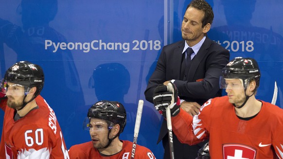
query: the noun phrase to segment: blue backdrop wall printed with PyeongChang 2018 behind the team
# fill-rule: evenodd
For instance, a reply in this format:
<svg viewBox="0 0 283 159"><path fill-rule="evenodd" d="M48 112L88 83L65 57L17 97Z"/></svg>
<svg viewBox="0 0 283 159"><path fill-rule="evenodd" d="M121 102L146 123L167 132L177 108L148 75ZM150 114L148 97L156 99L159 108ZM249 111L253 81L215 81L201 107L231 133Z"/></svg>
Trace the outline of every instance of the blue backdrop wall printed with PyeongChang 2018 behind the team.
<svg viewBox="0 0 283 159"><path fill-rule="evenodd" d="M82 129L88 108L115 100L127 110L122 140L133 141L137 104L144 100L138 144L162 158L160 118L143 92L164 45L181 39L190 0L0 0L0 77L15 62L39 64L42 96L56 113L70 148L90 140ZM208 0L208 36L261 69L257 98L271 102L274 82L282 104L283 0ZM0 124L3 120L0 111ZM2 125L0 125L2 128Z"/></svg>

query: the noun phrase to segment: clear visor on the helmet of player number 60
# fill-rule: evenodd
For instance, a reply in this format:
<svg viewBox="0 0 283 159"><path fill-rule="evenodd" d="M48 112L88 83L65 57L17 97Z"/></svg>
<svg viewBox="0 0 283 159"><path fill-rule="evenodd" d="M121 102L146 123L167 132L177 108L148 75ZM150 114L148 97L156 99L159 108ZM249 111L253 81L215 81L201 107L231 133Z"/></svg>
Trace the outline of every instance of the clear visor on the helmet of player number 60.
<svg viewBox="0 0 283 159"><path fill-rule="evenodd" d="M24 86L14 83L8 83L6 80L0 82L0 93L12 96L22 96L28 94L30 89L25 89Z"/></svg>

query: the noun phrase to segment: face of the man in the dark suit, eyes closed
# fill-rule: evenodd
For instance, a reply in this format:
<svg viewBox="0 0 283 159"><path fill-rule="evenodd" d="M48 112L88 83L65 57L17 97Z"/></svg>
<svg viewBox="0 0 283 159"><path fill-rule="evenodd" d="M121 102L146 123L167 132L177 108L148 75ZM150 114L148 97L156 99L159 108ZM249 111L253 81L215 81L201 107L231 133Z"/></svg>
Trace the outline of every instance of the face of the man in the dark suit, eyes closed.
<svg viewBox="0 0 283 159"><path fill-rule="evenodd" d="M182 38L188 44L195 45L208 32L206 26L202 27L202 19L204 18L204 11L198 10L194 7L189 7L184 15L182 22Z"/></svg>

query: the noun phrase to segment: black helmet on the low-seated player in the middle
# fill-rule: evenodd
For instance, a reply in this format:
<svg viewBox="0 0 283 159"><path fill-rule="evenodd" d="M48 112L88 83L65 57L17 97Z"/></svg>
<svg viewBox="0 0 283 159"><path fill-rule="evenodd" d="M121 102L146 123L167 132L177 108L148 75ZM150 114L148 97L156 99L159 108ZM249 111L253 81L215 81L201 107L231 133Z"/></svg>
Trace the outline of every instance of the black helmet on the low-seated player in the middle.
<svg viewBox="0 0 283 159"><path fill-rule="evenodd" d="M120 125L119 134L126 125L126 110L119 102L99 101L88 109L88 118L103 119Z"/></svg>

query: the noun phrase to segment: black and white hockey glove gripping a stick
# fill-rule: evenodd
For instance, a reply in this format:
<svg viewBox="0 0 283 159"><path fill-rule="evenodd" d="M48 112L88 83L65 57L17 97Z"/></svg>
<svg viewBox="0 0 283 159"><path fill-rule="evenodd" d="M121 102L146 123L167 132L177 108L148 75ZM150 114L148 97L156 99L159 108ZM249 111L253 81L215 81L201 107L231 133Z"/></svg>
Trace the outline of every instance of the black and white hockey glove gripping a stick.
<svg viewBox="0 0 283 159"><path fill-rule="evenodd" d="M171 109L171 115L174 117L180 112L180 99L176 86L170 82L167 86L160 84L155 88L153 94L153 103L156 110L165 117L165 108ZM166 118L166 117L165 117Z"/></svg>

